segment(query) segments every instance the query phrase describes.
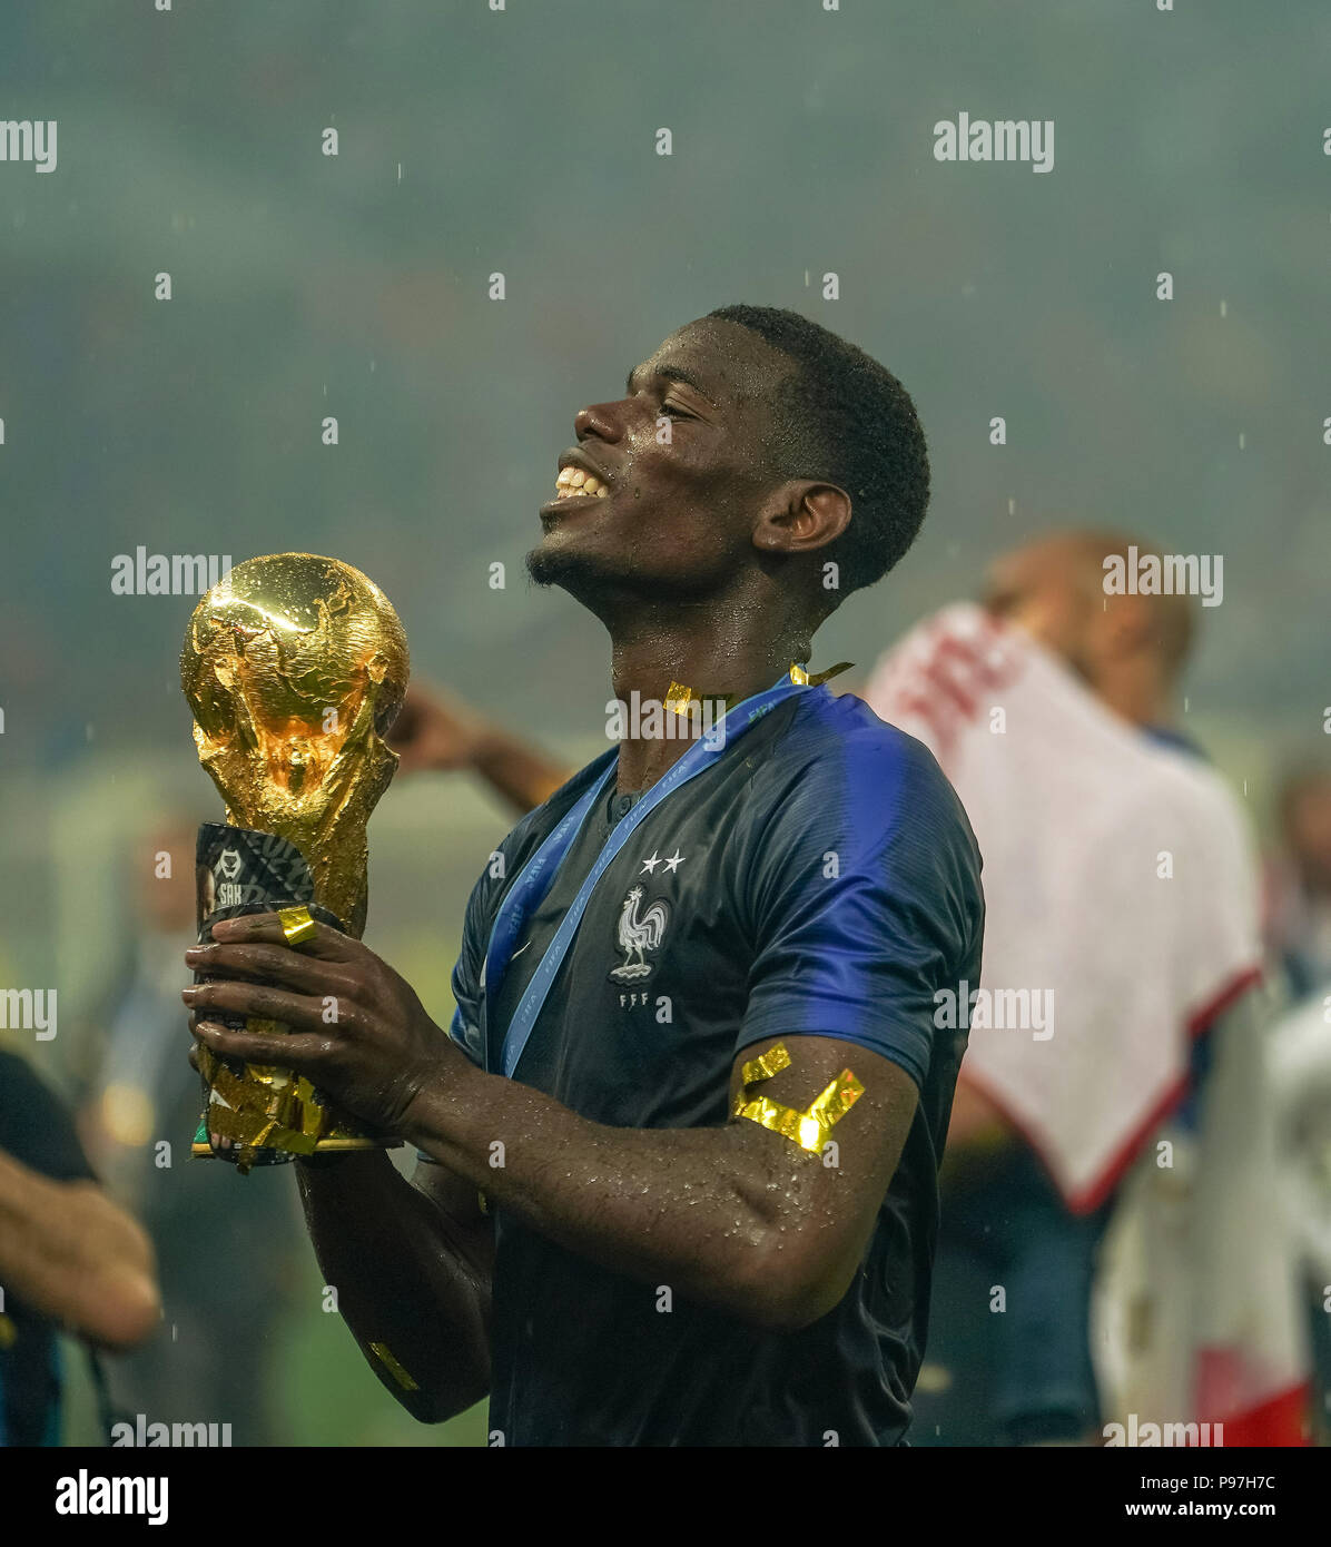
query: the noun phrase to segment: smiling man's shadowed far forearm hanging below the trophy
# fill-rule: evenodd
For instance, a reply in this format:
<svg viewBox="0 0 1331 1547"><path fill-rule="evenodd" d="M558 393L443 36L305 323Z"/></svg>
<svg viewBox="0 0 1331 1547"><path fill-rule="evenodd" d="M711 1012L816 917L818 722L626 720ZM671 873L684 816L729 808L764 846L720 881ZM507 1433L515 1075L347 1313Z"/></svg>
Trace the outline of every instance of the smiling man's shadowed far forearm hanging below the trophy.
<svg viewBox="0 0 1331 1547"><path fill-rule="evenodd" d="M475 1244L382 1151L297 1173L325 1284L384 1386L427 1423L480 1402L489 1265Z"/></svg>

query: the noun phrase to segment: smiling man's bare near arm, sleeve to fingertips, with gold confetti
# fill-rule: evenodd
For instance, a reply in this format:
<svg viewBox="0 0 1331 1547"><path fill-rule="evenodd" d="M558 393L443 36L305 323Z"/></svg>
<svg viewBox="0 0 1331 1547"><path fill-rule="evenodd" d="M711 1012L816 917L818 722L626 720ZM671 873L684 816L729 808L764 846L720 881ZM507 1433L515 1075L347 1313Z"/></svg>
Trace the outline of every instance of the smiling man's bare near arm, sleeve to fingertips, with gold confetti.
<svg viewBox="0 0 1331 1547"><path fill-rule="evenodd" d="M763 1074L763 1103L774 1108L766 1117L796 1118L796 1143L786 1128L769 1132L743 1120L611 1128L483 1074L405 979L337 930L319 925L310 954L279 944L285 936L275 914L226 919L214 933L212 945L186 953L197 970L220 973L183 990L200 1041L217 1054L306 1074L330 1101L415 1143L443 1168L426 1185L455 1222L466 1222L463 1210L480 1219L475 1188L593 1262L778 1330L825 1315L854 1279L918 1108L915 1078L898 1060L831 1035L799 1033L799 1060L788 1055ZM339 995L345 1012L331 1026L322 1009L328 993ZM209 1019L224 1010L316 1035L229 1030ZM862 1078L847 1067L851 1049ZM752 1081L748 1069L749 1060L734 1058L718 1098ZM811 1134L853 1105L836 1142L814 1145ZM402 1227L387 1230L381 1247L373 1191L358 1207L364 1258L373 1258ZM418 1262L413 1287L427 1286L436 1267ZM344 1258L333 1272L356 1269Z"/></svg>

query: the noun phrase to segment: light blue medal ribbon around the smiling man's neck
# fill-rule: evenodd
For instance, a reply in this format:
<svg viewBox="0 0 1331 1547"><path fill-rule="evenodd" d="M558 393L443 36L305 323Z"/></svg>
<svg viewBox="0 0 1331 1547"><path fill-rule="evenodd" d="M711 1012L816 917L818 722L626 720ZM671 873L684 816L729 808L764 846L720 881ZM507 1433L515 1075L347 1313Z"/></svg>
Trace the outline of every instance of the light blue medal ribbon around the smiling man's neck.
<svg viewBox="0 0 1331 1547"><path fill-rule="evenodd" d="M738 741L738 738L749 730L757 719L766 715L769 709L774 709L794 693L805 692L806 687L806 682L796 682L789 674L783 674L775 687L769 687L763 693L755 693L752 698L746 698L743 702L727 710L726 715L706 735L689 747L678 763L662 774L652 789L647 791L642 800L639 800L628 815L621 820L619 826L614 828L605 840L605 846L600 854L596 857L596 863L587 873L587 877L579 886L577 896L573 899L568 913L565 913L560 920L554 939L546 947L545 956L542 956L540 964L532 973L531 982L526 985L526 992L523 993L518 1007L514 1010L512 1021L509 1021L508 1030L505 1032L501 1052L501 1064L506 1075L512 1075L518 1058L522 1058L522 1052L526 1047L537 1016L545 1006L551 984L554 982L559 968L563 965L563 958L568 954L568 947L573 944L577 925L582 922L582 914L587 911L587 903L591 899L593 888L605 874L605 869L616 854L619 854L633 835L639 823L645 821L667 795L679 789L683 784L687 784L690 778L696 778L704 769L710 767L712 763L726 750L726 746ZM597 800L602 800L607 795L619 766L619 749L616 747L614 750L607 752L604 763L605 769L599 770L599 777L593 777L588 792L577 801L576 806L573 806L559 826L535 851L531 860L523 866L517 880L508 890L503 902L500 903L494 928L491 930L491 942L486 950L484 992L489 1004L494 1004L498 998L500 984L508 972L512 948L517 945L517 937L522 933L523 925L535 908L540 907L545 894L554 883L559 866L563 863L563 857L573 846L573 840L582 828L588 811L593 809ZM593 764L593 769L594 767L596 764ZM489 1038L486 1038L486 1043L489 1043ZM486 1049L486 1058L489 1058L489 1049Z"/></svg>

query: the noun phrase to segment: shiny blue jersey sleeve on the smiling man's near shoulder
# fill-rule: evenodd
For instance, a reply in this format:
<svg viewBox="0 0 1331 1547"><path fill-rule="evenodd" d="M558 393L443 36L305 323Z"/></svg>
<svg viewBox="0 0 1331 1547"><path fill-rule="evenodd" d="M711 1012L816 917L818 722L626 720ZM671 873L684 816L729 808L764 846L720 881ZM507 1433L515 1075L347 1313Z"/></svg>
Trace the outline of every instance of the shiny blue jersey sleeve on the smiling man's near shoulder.
<svg viewBox="0 0 1331 1547"><path fill-rule="evenodd" d="M922 1088L939 993L980 978L980 852L961 803L932 753L881 722L778 794L748 866L755 959L735 1050L836 1036Z"/></svg>

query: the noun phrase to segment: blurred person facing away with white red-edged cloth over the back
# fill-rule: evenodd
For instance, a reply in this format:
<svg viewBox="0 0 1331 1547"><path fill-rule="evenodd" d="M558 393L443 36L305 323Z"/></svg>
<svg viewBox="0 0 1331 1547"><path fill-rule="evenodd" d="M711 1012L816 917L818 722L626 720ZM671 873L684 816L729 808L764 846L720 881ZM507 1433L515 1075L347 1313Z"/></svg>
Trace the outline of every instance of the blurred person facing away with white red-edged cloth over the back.
<svg viewBox="0 0 1331 1547"><path fill-rule="evenodd" d="M864 693L952 780L989 910L939 1239L970 1287L936 1281L916 1443L1113 1442L1128 1414L1302 1442L1246 823L1168 729L1187 599L1105 585L1151 552L1018 549L986 608L921 623Z"/></svg>

